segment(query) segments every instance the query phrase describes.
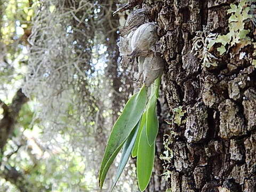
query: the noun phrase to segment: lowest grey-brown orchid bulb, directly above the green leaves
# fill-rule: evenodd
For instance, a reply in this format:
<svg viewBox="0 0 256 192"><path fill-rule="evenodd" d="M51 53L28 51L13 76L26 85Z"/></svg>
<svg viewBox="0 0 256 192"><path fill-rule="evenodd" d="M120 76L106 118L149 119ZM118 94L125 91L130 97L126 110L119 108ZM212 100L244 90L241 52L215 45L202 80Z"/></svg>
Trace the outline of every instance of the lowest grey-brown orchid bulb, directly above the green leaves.
<svg viewBox="0 0 256 192"><path fill-rule="evenodd" d="M144 83L148 87L150 86L155 79L163 74L164 69L164 60L151 53L148 55L143 62L143 78Z"/></svg>

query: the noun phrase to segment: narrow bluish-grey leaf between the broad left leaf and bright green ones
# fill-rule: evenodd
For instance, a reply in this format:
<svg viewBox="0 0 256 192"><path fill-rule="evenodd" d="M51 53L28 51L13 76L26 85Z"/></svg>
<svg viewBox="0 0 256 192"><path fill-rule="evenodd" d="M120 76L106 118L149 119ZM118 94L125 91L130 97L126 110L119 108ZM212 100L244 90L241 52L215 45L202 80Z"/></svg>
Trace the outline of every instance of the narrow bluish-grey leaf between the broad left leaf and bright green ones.
<svg viewBox="0 0 256 192"><path fill-rule="evenodd" d="M138 124L135 126L135 129L133 129L133 131L129 135L129 138L124 143L123 153L122 153L121 160L120 160L120 163L119 163L119 166L117 169L115 181L111 187L111 191L113 191L114 187L116 186L116 183L117 183L118 179L120 178L120 176L124 170L124 167L131 155L131 151L132 151L132 148L135 143L135 139L136 139L138 131L139 131L140 122L141 121L138 122Z"/></svg>

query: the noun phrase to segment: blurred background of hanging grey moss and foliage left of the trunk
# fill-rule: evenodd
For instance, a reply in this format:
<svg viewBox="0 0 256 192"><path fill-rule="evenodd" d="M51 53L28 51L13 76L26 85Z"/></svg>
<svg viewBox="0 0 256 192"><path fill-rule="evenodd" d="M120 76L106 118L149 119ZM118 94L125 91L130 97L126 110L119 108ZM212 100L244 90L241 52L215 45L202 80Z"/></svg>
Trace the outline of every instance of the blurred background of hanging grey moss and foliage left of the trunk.
<svg viewBox="0 0 256 192"><path fill-rule="evenodd" d="M133 92L131 66L117 65L121 3L0 0L0 192L99 191L102 149ZM116 191L137 190L134 170Z"/></svg>

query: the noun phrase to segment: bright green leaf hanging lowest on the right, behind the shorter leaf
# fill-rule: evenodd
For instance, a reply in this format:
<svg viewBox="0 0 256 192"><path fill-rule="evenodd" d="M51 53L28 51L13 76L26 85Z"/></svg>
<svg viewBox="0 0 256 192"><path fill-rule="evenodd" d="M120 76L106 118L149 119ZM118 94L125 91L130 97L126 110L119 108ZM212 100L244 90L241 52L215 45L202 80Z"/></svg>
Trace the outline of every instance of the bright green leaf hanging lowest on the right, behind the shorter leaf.
<svg viewBox="0 0 256 192"><path fill-rule="evenodd" d="M155 159L155 143L148 144L146 126L140 135L138 156L137 156L137 177L140 191L144 191L150 181Z"/></svg>

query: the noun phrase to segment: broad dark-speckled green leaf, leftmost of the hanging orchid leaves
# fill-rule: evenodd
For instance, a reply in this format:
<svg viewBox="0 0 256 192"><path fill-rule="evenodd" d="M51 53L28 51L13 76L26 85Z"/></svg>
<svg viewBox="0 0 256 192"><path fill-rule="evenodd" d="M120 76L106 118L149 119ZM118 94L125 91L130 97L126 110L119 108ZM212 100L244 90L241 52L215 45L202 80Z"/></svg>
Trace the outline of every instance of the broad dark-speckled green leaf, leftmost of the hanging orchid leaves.
<svg viewBox="0 0 256 192"><path fill-rule="evenodd" d="M138 93L127 101L122 114L118 117L111 131L99 172L99 186L102 188L109 167L119 150L124 145L135 125L139 122L147 102L147 90L142 86Z"/></svg>

